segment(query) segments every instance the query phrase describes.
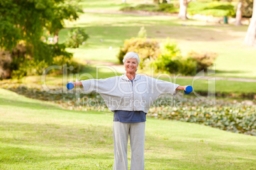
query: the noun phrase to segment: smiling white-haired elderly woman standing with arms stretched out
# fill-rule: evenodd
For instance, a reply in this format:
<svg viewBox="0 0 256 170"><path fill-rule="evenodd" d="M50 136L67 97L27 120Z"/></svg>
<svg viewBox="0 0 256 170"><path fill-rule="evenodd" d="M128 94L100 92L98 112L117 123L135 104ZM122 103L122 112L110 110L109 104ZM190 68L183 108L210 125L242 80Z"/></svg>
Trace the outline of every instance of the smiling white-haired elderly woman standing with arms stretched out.
<svg viewBox="0 0 256 170"><path fill-rule="evenodd" d="M127 53L123 62L126 70L124 75L72 83L74 86L83 86L86 93L97 91L114 113L113 169L128 169L128 136L131 143L131 169L144 169L145 121L150 106L158 96L164 93L176 95L178 90L185 90L187 86L136 74L139 65L137 53Z"/></svg>

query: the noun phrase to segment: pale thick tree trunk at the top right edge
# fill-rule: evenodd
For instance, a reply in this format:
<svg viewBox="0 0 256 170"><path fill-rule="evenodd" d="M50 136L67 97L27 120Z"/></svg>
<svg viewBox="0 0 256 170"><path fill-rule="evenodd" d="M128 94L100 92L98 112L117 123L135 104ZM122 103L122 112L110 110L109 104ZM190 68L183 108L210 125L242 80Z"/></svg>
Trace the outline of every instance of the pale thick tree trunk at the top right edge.
<svg viewBox="0 0 256 170"><path fill-rule="evenodd" d="M256 0L253 0L252 20L245 36L245 44L256 46Z"/></svg>

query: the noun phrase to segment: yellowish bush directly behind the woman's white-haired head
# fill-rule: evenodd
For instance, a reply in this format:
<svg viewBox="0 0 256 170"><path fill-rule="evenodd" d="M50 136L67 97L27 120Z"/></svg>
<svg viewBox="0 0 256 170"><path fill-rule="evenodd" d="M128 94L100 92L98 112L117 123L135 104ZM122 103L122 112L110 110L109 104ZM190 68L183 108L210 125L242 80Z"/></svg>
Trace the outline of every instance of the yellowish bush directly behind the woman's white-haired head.
<svg viewBox="0 0 256 170"><path fill-rule="evenodd" d="M128 52L138 53L141 62L139 66L141 69L145 66L145 60L156 59L159 56L160 48L159 42L155 39L146 39L139 37L132 37L124 41L124 48L120 48L117 56L119 63L123 63L122 60Z"/></svg>

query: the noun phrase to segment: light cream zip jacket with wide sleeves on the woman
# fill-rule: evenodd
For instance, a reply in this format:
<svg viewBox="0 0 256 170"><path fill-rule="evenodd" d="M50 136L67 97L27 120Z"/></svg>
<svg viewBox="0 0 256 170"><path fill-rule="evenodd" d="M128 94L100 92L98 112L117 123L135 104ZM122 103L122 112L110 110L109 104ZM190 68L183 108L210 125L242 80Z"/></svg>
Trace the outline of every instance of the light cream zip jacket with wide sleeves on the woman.
<svg viewBox="0 0 256 170"><path fill-rule="evenodd" d="M136 74L133 83L124 75L107 79L89 79L82 81L85 93L96 91L107 107L114 110L148 112L157 97L169 93L178 93L178 84Z"/></svg>

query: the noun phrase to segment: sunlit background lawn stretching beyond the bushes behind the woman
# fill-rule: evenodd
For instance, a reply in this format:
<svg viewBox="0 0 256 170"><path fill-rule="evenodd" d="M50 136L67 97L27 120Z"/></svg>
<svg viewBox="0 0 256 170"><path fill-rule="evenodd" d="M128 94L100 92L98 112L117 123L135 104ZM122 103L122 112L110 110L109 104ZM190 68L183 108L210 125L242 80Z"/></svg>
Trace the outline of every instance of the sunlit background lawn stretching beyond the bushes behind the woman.
<svg viewBox="0 0 256 170"><path fill-rule="evenodd" d="M88 10L108 10L110 6L117 8L123 5L121 1L83 1L83 4ZM110 10L114 9L111 7ZM89 34L89 40L80 48L69 51L83 60L117 62L117 54L124 40L137 36L142 26L147 30L149 38L164 41L166 37L170 37L178 42L183 56L191 50L217 52L217 77L256 79L256 49L243 45L247 25L236 27L196 20L182 21L174 16L84 13L76 22L66 22L66 29L60 31L59 40L65 40L69 28L82 27Z"/></svg>

